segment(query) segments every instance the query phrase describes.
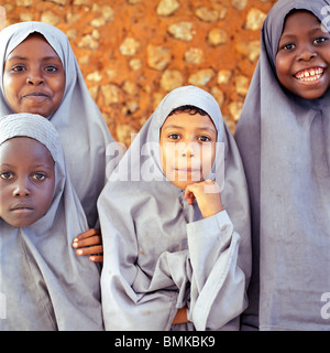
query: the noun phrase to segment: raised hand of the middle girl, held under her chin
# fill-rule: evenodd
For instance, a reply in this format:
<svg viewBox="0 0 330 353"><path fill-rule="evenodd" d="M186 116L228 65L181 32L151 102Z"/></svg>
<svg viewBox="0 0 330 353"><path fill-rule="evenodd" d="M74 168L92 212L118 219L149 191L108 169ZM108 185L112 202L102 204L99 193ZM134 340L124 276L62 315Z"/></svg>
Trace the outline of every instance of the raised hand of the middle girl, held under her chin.
<svg viewBox="0 0 330 353"><path fill-rule="evenodd" d="M220 188L211 180L188 185L185 190L185 199L187 199L188 205L193 205L196 199L204 218L223 211Z"/></svg>

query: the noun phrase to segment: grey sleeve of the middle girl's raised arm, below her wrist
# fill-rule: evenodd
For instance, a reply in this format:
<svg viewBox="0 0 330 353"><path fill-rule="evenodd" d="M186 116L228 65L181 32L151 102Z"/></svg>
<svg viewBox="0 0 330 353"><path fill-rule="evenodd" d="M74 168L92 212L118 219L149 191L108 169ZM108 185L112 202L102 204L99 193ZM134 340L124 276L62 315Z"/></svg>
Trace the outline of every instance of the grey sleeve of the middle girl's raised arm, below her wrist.
<svg viewBox="0 0 330 353"><path fill-rule="evenodd" d="M226 211L187 224L187 234L193 270L188 319L197 330L239 329L238 318L248 307L238 261L240 235Z"/></svg>

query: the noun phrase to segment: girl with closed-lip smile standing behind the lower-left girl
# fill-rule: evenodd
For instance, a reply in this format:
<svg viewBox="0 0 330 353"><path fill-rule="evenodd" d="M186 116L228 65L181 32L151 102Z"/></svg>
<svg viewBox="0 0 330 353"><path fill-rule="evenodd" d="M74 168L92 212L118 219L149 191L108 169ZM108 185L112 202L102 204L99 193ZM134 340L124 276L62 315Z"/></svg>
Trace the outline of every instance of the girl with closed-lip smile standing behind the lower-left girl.
<svg viewBox="0 0 330 353"><path fill-rule="evenodd" d="M53 25L22 22L0 32L0 117L31 113L57 129L73 184L95 227L113 138L92 100L67 36Z"/></svg>

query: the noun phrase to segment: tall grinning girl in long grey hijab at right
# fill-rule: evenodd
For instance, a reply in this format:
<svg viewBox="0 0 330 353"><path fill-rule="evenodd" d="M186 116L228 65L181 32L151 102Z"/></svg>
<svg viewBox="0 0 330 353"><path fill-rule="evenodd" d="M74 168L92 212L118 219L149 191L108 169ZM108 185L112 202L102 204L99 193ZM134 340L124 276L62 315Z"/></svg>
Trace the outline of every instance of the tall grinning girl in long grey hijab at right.
<svg viewBox="0 0 330 353"><path fill-rule="evenodd" d="M253 231L245 329L329 330L328 4L274 6L238 124Z"/></svg>

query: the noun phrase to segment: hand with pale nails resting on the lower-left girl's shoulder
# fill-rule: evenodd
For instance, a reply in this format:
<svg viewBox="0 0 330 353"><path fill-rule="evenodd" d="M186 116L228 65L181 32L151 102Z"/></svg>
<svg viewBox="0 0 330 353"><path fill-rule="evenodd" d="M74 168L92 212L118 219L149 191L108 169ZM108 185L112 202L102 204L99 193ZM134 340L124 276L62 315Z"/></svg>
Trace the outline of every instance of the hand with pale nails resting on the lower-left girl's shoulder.
<svg viewBox="0 0 330 353"><path fill-rule="evenodd" d="M91 255L89 260L94 263L103 261L103 246L101 232L99 229L90 228L87 232L79 234L74 238L73 247L78 256Z"/></svg>

